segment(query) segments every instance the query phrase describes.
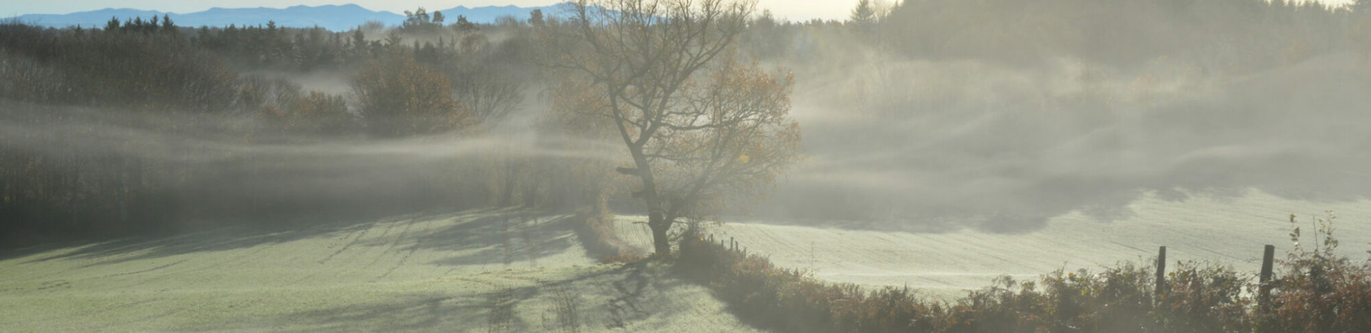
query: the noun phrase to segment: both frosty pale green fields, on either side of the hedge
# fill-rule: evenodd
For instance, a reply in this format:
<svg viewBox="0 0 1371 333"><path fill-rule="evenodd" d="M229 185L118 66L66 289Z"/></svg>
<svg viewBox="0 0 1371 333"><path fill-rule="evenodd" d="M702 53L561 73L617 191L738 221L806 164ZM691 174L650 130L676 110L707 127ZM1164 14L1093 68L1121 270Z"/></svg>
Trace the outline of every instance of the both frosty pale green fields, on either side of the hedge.
<svg viewBox="0 0 1371 333"><path fill-rule="evenodd" d="M1341 252L1371 249L1371 203L1261 192L1145 197L1132 215L1053 218L1026 233L906 233L764 222L716 226L750 252L828 281L909 285L951 299L1001 274L1146 260L1209 260L1256 273L1261 247L1290 249L1289 214L1338 214ZM620 236L647 247L639 221ZM413 214L277 232L218 229L163 238L0 252L0 328L52 330L754 330L662 263L598 264L565 217L522 211ZM1279 258L1279 256L1278 256Z"/></svg>

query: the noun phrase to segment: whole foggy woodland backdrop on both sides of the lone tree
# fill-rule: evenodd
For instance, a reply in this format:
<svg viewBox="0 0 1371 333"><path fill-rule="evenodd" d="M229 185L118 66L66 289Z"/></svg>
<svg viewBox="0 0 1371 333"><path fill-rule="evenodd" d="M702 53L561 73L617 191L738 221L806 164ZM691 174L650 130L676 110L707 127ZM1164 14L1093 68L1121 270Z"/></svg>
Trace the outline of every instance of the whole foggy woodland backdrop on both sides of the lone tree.
<svg viewBox="0 0 1371 333"><path fill-rule="evenodd" d="M795 74L790 115L809 156L769 200L720 207L1023 233L1073 211L1119 221L1143 195L1364 199L1367 12L1260 0L901 1L847 22L761 12L736 56ZM14 184L0 217L64 230L138 211L548 200L642 214L642 185L614 174L631 164L622 141L591 140L616 134L569 116L594 106L553 89L566 82L539 36L565 18L548 15L413 14L350 33L0 25L0 175Z"/></svg>

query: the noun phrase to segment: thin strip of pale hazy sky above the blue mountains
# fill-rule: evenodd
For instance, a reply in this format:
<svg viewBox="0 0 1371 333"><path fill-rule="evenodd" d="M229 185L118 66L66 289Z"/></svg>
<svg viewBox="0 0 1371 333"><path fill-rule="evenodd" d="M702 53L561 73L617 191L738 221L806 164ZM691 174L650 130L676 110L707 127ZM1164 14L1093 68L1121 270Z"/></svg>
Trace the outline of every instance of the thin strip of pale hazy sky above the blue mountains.
<svg viewBox="0 0 1371 333"><path fill-rule="evenodd" d="M296 4L306 5L321 5L321 4L359 4L362 7L378 11L392 11L400 12L404 10L414 10L417 7L424 7L429 10L452 8L457 5L466 7L481 7L481 5L547 5L565 0L123 0L123 1L108 1L108 0L53 0L53 1L23 1L23 0L3 0L0 3L0 16L14 16L23 14L67 14L77 11L92 11L101 8L134 8L134 10L154 10L154 11L170 11L170 12L195 12L208 10L211 7L226 7L226 8L241 8L241 7L291 7ZM877 0L879 1L879 0ZM1338 1L1338 0L1333 0ZM786 16L790 19L810 19L810 18L825 18L825 19L840 19L846 18L847 12L857 3L857 0L760 0L758 5L761 8L769 8L777 16Z"/></svg>

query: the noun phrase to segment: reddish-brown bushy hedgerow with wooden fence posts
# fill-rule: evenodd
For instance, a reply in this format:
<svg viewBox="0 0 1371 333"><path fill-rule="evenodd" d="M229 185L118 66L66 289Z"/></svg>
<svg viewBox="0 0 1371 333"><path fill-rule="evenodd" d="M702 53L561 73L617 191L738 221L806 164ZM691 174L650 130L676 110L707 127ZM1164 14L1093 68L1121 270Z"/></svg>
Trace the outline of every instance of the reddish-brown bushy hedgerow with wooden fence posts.
<svg viewBox="0 0 1371 333"><path fill-rule="evenodd" d="M1154 264L1119 263L1006 275L953 301L821 281L694 233L681 237L676 267L746 322L779 332L1371 332L1371 266L1335 255L1331 226L1324 233L1320 249L1297 247L1281 262L1265 311L1253 274L1197 262L1167 273L1160 295Z"/></svg>

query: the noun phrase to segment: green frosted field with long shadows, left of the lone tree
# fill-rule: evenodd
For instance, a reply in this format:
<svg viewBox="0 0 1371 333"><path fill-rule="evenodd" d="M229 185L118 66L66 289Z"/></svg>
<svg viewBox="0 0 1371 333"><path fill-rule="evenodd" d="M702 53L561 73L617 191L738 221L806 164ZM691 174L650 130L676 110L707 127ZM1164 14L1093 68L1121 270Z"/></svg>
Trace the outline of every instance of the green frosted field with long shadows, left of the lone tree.
<svg viewBox="0 0 1371 333"><path fill-rule="evenodd" d="M596 264L568 219L415 214L0 252L0 330L746 332L658 264Z"/></svg>

